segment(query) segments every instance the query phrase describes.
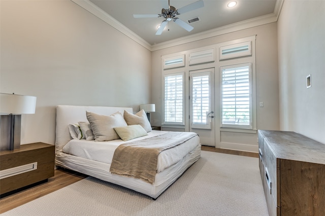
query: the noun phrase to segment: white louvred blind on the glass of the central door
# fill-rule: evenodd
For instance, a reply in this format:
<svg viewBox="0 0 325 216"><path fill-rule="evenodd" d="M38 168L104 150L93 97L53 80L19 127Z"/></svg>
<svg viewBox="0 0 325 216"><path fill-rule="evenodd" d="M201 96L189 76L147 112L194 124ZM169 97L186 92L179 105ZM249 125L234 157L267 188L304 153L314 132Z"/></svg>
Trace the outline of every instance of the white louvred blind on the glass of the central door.
<svg viewBox="0 0 325 216"><path fill-rule="evenodd" d="M192 77L193 123L207 124L207 113L210 110L209 75Z"/></svg>

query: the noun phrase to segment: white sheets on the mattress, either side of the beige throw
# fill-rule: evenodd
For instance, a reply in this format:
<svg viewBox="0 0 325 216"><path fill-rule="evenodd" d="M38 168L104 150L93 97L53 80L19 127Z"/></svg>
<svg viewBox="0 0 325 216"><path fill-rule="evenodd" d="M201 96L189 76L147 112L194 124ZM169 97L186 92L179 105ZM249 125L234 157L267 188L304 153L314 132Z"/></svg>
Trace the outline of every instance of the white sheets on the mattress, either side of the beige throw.
<svg viewBox="0 0 325 216"><path fill-rule="evenodd" d="M98 142L94 140L72 139L63 147L63 152L85 159L111 164L115 149L122 143L142 140L166 132L167 131L153 130L148 132L147 136L138 137L128 141L115 139L111 141ZM161 152L158 155L157 173L179 162L186 154L197 146L198 141L199 137L197 136L190 139L186 144Z"/></svg>

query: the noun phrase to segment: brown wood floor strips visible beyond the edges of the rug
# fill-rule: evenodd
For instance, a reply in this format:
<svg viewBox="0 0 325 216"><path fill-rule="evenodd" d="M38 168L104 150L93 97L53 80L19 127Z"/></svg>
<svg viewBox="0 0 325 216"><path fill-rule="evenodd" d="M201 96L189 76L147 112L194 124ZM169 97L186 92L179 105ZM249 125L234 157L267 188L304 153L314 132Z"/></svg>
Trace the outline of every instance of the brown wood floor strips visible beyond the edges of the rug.
<svg viewBox="0 0 325 216"><path fill-rule="evenodd" d="M240 152L234 150L216 149L214 147L202 146L203 151L218 152L224 154L241 155L248 157L258 157L257 153ZM71 171L68 169L55 169L54 176L48 179L48 182L25 189L21 192L3 197L0 199L0 213L6 212L10 209L18 207L22 204L35 200L39 197L45 196L56 190L64 188L68 185L76 183L87 175Z"/></svg>

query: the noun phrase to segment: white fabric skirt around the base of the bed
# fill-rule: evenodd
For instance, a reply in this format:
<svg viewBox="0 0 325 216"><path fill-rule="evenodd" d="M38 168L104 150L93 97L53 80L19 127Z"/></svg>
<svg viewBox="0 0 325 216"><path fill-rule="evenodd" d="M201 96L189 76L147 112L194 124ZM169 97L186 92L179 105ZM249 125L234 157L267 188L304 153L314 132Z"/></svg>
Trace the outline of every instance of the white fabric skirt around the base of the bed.
<svg viewBox="0 0 325 216"><path fill-rule="evenodd" d="M157 173L152 185L138 178L112 174L109 172L110 164L76 157L62 152L56 154L56 165L132 189L156 199L172 185L188 167L196 162L200 156L201 145L198 145L177 164L165 169L163 172Z"/></svg>

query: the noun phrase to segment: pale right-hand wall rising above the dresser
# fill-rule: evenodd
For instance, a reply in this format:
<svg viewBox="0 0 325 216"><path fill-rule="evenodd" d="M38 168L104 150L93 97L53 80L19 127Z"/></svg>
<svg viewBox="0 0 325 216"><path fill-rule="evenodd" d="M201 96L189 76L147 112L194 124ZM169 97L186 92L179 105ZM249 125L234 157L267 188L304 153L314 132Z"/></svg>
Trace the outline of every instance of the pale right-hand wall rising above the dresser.
<svg viewBox="0 0 325 216"><path fill-rule="evenodd" d="M278 20L280 129L325 144L324 39L325 1L284 1Z"/></svg>

